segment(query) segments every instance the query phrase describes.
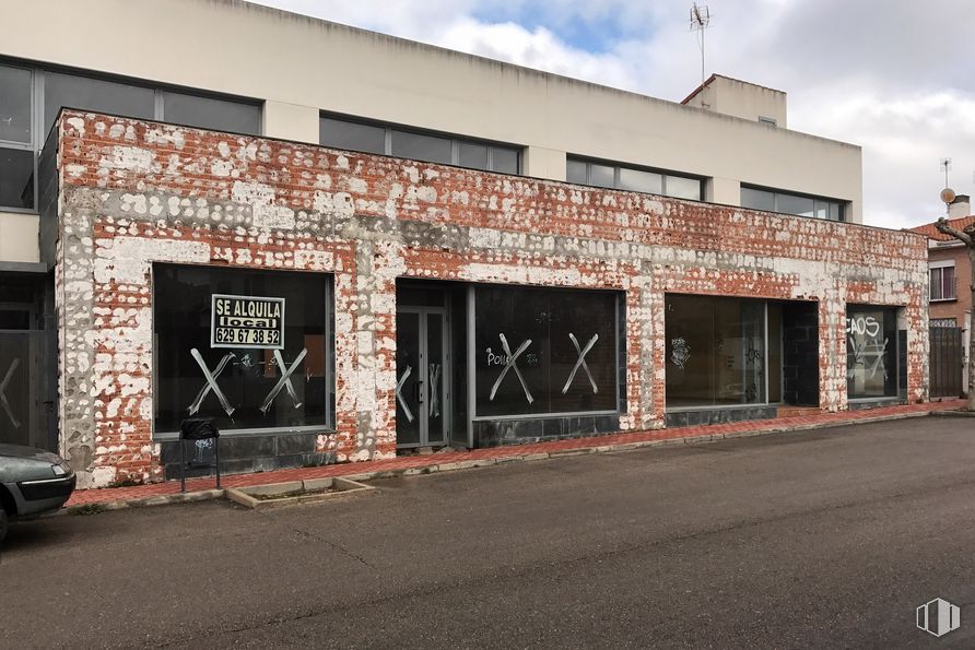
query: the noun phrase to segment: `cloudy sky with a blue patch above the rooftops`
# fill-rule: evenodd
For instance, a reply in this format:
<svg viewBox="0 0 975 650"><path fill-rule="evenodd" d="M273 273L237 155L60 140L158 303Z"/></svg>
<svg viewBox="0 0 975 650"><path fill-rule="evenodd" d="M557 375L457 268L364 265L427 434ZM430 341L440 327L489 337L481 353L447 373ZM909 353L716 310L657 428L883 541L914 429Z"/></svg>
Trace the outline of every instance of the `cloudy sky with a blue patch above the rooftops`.
<svg viewBox="0 0 975 650"><path fill-rule="evenodd" d="M864 149L864 222L902 228L975 194L975 2L698 0L705 68L788 93L789 128ZM260 0L681 101L701 83L691 0Z"/></svg>

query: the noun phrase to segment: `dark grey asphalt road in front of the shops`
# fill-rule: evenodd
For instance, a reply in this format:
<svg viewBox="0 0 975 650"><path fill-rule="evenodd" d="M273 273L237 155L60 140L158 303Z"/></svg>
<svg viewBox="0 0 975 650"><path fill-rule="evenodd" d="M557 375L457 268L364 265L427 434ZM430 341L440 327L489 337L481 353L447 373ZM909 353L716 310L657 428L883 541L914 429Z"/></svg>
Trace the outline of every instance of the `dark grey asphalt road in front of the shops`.
<svg viewBox="0 0 975 650"><path fill-rule="evenodd" d="M376 484L14 527L0 647L975 646L970 419Z"/></svg>

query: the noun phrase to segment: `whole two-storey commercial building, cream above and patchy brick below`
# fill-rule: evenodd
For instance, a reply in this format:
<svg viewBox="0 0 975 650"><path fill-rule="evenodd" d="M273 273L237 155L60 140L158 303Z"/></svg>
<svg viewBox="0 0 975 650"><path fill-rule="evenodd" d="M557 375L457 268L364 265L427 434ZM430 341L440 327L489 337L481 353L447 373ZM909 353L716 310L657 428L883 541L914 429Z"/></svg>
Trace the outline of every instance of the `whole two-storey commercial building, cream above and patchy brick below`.
<svg viewBox="0 0 975 650"><path fill-rule="evenodd" d="M245 472L928 397L927 240L860 225L859 147L785 93L3 4L0 441L84 486L173 475L188 416Z"/></svg>

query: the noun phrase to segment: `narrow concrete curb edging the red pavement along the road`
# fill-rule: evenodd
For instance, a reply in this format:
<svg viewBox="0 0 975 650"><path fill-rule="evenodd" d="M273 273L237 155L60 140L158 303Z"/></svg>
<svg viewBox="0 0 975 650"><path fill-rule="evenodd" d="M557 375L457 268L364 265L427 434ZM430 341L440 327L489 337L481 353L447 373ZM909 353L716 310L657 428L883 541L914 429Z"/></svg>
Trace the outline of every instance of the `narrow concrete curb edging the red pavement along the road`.
<svg viewBox="0 0 975 650"><path fill-rule="evenodd" d="M637 440L635 442L620 442L619 445L599 445L596 447L579 447L576 449L560 449L551 452L532 452L525 454L505 456L502 458L484 458L453 461L448 463L424 465L421 468L402 468L396 470L376 470L374 472L361 472L357 474L343 474L337 476L349 481L376 481L379 478L399 478L401 476L421 476L425 474L435 474L442 472L456 472L460 470L472 470L475 468L486 468L491 465L509 464L515 462L529 462L539 460L555 460L560 458L572 458L575 456L587 456L590 453L622 453L634 451L637 449L647 449L650 447L677 447L680 445L703 445L707 442L717 442L719 440L733 440L736 438L750 438L754 436L767 436L771 434L795 434L801 432L810 432L818 429L838 428L843 426L851 426L858 424L872 424L877 422L891 422L895 419L908 419L912 417L926 417L938 413L937 411L919 411L916 413L897 413L893 415L877 415L872 417L859 417L857 419L847 419L838 422L794 424L770 427L764 429L752 429L744 432L731 432L726 434L705 434L701 436L686 436L676 438L665 438L661 440ZM172 504L187 504L197 501L208 501L218 498L226 498L224 489L203 489L198 492L187 492L177 494L153 495L137 499L125 499L118 501L96 501L93 504L81 504L69 508L61 508L58 512L63 515L83 515L94 513L107 510L121 510L126 508L145 508L151 506L167 506Z"/></svg>

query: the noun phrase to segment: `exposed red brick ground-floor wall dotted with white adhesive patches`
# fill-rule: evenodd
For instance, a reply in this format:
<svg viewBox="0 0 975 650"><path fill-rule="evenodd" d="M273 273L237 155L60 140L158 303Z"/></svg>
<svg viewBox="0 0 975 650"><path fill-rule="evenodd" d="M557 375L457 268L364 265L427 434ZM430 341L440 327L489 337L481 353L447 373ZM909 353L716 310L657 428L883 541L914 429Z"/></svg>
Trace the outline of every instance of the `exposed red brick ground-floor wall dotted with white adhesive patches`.
<svg viewBox="0 0 975 650"><path fill-rule="evenodd" d="M160 478L152 262L328 272L341 460L395 453L396 279L626 293L624 429L660 427L667 292L817 300L820 400L846 409L849 303L906 308L927 397L924 237L260 138L66 113L63 452L83 484Z"/></svg>

